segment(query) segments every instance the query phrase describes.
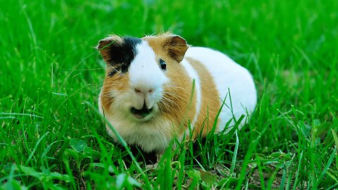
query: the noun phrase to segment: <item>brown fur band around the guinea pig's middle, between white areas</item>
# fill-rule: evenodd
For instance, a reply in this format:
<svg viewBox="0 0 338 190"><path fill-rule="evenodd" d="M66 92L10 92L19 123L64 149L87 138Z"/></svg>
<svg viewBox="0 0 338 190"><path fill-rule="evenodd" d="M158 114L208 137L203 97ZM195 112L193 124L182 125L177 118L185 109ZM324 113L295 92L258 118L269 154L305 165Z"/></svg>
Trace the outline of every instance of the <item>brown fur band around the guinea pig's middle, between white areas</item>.
<svg viewBox="0 0 338 190"><path fill-rule="evenodd" d="M197 71L201 82L201 108L199 110L199 116L194 124L194 138L202 137L211 132L213 122L220 108L219 94L216 89L215 82L211 73L208 72L206 67L199 63L199 61L193 58L186 58L192 67Z"/></svg>

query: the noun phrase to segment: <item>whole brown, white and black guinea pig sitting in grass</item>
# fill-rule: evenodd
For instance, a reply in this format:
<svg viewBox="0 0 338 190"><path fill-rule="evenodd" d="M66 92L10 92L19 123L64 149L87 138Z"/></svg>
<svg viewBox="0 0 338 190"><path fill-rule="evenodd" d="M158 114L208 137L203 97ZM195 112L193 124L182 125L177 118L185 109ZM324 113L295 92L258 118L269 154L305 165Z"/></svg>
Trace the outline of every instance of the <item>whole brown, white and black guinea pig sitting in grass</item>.
<svg viewBox="0 0 338 190"><path fill-rule="evenodd" d="M161 155L174 138L228 132L227 122L234 125L245 115L244 124L256 107L248 70L220 51L189 46L178 35L111 35L96 48L107 65L99 110L128 145L146 153Z"/></svg>

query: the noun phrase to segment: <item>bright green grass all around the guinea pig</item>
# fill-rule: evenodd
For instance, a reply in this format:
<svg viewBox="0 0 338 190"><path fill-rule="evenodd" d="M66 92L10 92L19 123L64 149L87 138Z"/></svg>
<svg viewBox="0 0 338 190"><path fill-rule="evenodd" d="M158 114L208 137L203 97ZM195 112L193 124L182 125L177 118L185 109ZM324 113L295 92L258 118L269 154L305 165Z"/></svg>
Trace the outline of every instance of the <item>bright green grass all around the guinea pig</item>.
<svg viewBox="0 0 338 190"><path fill-rule="evenodd" d="M338 1L0 4L1 189L338 188ZM105 66L94 46L167 30L248 68L258 106L201 153L182 144L156 170L126 167L91 106Z"/></svg>

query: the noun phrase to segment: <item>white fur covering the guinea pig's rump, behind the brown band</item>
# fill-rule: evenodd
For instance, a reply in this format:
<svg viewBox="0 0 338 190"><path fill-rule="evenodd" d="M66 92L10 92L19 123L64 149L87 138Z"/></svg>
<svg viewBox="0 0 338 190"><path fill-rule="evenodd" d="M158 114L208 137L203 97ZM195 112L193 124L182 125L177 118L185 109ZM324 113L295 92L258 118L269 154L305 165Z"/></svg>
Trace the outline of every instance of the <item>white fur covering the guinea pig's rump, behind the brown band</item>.
<svg viewBox="0 0 338 190"><path fill-rule="evenodd" d="M185 54L185 58L187 57L201 62L211 72L220 95L218 98L224 101L226 97L225 106L218 118L219 132L225 128L227 122L232 120L232 113L237 120L241 115L247 116L253 112L257 100L256 88L251 74L246 68L235 63L225 54L204 47L190 47ZM242 120L242 124L245 120L246 118ZM234 125L234 121L232 121L232 125ZM227 132L229 130L230 128L226 129Z"/></svg>

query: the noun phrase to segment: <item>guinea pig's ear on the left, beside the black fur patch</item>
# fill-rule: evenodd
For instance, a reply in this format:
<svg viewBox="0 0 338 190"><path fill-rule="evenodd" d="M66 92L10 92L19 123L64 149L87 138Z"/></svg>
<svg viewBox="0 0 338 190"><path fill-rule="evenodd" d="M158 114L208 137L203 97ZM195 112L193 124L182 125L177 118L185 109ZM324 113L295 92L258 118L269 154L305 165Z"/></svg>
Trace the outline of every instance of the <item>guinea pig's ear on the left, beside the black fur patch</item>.
<svg viewBox="0 0 338 190"><path fill-rule="evenodd" d="M114 60L114 54L118 53L123 46L123 38L117 35L111 35L105 39L101 39L96 49L100 51L104 61L113 65L116 61Z"/></svg>

